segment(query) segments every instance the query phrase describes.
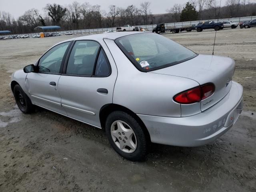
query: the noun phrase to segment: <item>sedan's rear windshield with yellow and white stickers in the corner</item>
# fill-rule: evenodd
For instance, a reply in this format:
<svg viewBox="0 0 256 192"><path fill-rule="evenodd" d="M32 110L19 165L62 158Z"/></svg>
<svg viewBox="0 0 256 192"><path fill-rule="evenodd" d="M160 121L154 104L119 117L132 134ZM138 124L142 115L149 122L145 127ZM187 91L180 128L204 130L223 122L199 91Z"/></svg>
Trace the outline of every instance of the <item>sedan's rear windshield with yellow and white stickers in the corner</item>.
<svg viewBox="0 0 256 192"><path fill-rule="evenodd" d="M144 72L176 65L197 56L184 46L154 33L123 36L115 42L134 66Z"/></svg>

